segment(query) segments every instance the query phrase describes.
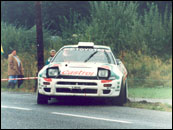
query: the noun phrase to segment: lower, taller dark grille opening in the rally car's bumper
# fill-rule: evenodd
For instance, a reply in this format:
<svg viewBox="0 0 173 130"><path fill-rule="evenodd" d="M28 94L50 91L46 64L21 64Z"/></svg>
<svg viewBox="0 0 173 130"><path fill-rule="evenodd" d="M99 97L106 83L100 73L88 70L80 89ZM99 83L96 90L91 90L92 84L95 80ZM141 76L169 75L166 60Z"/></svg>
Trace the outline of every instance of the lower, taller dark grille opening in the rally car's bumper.
<svg viewBox="0 0 173 130"><path fill-rule="evenodd" d="M68 88L57 88L56 92L61 93L89 93L96 94L97 89L68 89Z"/></svg>

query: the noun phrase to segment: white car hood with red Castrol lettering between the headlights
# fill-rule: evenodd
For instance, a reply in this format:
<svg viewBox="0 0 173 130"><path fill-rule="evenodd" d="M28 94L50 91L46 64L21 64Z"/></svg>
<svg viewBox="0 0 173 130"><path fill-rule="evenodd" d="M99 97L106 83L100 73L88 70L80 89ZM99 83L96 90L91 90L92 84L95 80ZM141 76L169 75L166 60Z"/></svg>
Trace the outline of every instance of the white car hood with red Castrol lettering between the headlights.
<svg viewBox="0 0 173 130"><path fill-rule="evenodd" d="M119 79L123 75L120 69L114 64L106 63L83 63L83 62L61 62L50 63L44 66L39 72L39 77L46 77L46 69L51 67L58 67L60 75L64 76L90 76L95 77L98 73L98 68L104 68L111 71L111 77Z"/></svg>

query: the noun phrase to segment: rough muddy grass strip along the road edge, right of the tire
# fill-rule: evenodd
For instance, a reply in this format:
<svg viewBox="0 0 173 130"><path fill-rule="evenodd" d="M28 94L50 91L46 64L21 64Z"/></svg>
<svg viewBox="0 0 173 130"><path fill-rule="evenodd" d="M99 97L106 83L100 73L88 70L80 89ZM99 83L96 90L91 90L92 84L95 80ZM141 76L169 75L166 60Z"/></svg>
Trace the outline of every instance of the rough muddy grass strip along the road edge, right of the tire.
<svg viewBox="0 0 173 130"><path fill-rule="evenodd" d="M126 107L132 108L141 108L141 109L149 109L149 110L157 110L157 111L166 111L172 112L172 106L169 104L163 103L148 103L146 101L141 102L127 102L124 104Z"/></svg>

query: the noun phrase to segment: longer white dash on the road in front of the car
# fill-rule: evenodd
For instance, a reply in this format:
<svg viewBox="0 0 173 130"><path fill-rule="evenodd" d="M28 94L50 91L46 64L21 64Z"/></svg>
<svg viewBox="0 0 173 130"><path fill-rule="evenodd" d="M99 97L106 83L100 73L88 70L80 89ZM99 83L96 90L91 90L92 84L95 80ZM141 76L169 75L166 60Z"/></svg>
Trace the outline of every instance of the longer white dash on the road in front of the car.
<svg viewBox="0 0 173 130"><path fill-rule="evenodd" d="M68 113L51 112L51 114L63 115L63 116L72 116L72 117L79 117L79 118L87 118L87 119L94 119L94 120L103 120L103 121L110 121L110 122L119 122L119 123L128 123L128 124L132 123L132 122L123 121L123 120L113 120L113 119L98 118L98 117L83 116L83 115L75 115L75 114L68 114Z"/></svg>

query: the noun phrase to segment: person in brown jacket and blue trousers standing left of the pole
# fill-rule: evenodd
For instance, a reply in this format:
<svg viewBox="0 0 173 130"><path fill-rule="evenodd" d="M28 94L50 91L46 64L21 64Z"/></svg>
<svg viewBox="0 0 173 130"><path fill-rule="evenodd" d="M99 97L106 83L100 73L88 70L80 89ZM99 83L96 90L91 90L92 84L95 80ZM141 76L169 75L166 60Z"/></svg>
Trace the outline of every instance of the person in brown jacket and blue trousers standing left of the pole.
<svg viewBox="0 0 173 130"><path fill-rule="evenodd" d="M9 79L24 77L24 69L21 60L16 55L16 50L13 49L11 54L8 55L8 76ZM23 83L23 80L9 80L7 88L15 88L18 82L18 88Z"/></svg>

